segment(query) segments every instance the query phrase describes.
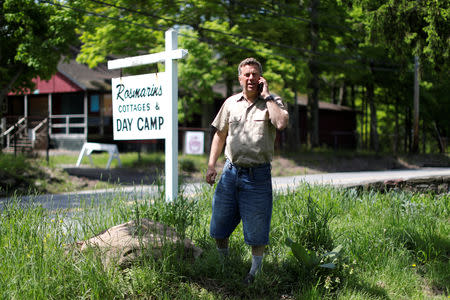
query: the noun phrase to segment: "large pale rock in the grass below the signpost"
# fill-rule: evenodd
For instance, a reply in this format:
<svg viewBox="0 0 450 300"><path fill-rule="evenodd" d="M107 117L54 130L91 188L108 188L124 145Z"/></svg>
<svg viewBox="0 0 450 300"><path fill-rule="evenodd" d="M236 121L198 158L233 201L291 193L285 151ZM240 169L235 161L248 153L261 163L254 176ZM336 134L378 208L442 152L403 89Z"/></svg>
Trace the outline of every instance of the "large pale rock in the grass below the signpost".
<svg viewBox="0 0 450 300"><path fill-rule="evenodd" d="M145 218L140 219L139 224L130 221L111 227L86 241L77 242L77 248L81 252L90 248L98 251L105 267L125 268L142 254L158 258L165 246L176 244L182 244L188 256L197 258L202 253L191 240L181 240L172 227Z"/></svg>

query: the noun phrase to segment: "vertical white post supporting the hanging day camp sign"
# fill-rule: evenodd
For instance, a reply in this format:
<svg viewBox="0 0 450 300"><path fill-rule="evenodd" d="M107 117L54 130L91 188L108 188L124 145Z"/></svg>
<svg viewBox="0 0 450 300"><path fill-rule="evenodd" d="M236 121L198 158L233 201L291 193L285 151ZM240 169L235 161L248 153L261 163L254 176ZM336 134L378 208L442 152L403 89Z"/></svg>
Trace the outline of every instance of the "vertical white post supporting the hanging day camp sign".
<svg viewBox="0 0 450 300"><path fill-rule="evenodd" d="M177 32L166 31L166 53L178 48ZM168 92L172 101L170 105L169 136L166 138L166 201L173 201L178 194L178 68L177 61L166 57L165 69L168 79Z"/></svg>

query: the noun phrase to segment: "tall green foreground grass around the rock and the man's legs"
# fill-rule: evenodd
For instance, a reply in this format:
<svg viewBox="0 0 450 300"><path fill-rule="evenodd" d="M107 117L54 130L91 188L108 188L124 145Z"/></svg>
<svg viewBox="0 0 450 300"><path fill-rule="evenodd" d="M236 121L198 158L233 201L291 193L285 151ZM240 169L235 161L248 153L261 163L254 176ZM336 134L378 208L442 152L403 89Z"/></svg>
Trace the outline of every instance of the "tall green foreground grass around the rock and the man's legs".
<svg viewBox="0 0 450 300"><path fill-rule="evenodd" d="M0 219L1 299L448 299L449 194L358 191L303 185L274 196L270 246L250 287L251 263L238 226L230 255L209 237L213 189L165 203L158 197L104 197L78 210L33 201L4 203ZM125 270L104 269L94 253L65 245L131 219L173 226L203 248L195 261L168 250ZM306 268L286 245L313 252L343 247L335 269Z"/></svg>

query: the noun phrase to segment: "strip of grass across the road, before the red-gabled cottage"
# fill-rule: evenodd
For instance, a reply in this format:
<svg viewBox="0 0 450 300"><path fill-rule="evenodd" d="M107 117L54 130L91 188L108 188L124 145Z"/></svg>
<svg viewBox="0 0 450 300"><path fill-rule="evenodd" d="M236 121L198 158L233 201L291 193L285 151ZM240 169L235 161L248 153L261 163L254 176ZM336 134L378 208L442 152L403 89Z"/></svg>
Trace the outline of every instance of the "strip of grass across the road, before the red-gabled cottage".
<svg viewBox="0 0 450 300"><path fill-rule="evenodd" d="M103 169L109 159L108 153L94 153L91 155L96 168ZM118 182L106 179L99 180L95 186L89 186L70 178L61 166L75 166L78 159L76 154L53 155L47 162L45 158L30 158L23 155L0 153L0 197L50 193L58 194L74 192L84 189L114 188ZM120 154L123 169L146 170L155 177L164 170L164 153L136 152ZM202 172L206 170L206 156L180 155L178 159L179 172L184 177L194 177L195 180L203 178ZM82 165L89 166L88 157L84 157ZM117 160L113 160L111 168L119 169ZM195 174L195 175L194 175Z"/></svg>

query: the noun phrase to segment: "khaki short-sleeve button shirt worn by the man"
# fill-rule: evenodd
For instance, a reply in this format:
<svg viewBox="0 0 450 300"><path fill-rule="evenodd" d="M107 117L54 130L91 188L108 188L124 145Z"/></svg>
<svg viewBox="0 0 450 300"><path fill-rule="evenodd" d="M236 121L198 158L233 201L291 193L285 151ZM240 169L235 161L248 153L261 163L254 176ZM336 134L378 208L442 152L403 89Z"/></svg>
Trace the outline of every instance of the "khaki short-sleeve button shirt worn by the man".
<svg viewBox="0 0 450 300"><path fill-rule="evenodd" d="M286 110L280 97L275 97L275 103ZM276 128L261 97L249 104L243 93L231 96L211 125L227 133L225 156L233 164L249 167L272 160Z"/></svg>

